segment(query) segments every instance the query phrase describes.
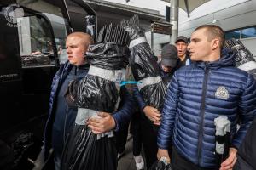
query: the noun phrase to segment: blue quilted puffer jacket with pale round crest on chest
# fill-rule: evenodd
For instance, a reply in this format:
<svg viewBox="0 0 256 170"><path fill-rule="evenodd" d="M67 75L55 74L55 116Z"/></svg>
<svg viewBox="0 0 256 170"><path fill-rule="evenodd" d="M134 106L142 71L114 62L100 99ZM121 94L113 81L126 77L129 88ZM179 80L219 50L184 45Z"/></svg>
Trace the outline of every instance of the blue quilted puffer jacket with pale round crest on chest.
<svg viewBox="0 0 256 170"><path fill-rule="evenodd" d="M174 73L166 94L158 146L172 144L179 154L200 167L214 168L214 118L227 116L231 141L239 148L256 114L256 82L234 67L235 54L224 49L215 62L197 62ZM240 119L241 126L236 132Z"/></svg>

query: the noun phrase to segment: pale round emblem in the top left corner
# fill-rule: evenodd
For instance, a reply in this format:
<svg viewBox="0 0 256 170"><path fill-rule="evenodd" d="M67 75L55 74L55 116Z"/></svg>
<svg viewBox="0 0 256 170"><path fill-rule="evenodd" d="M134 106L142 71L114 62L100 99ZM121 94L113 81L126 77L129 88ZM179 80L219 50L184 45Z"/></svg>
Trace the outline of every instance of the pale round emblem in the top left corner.
<svg viewBox="0 0 256 170"><path fill-rule="evenodd" d="M23 8L20 8L19 4L10 4L4 9L4 17L8 21L7 26L18 27L20 26L20 20L24 16Z"/></svg>

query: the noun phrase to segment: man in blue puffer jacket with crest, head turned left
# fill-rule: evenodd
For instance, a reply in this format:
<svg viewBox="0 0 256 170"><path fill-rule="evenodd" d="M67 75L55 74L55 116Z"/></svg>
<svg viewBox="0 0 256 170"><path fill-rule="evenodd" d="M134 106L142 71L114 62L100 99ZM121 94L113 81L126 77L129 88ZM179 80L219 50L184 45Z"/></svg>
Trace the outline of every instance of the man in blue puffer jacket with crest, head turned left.
<svg viewBox="0 0 256 170"><path fill-rule="evenodd" d="M157 156L170 159L166 149L172 144L175 170L216 169L214 118L218 116L227 116L231 122L230 155L220 169L232 169L256 115L256 82L235 67L235 54L221 50L223 44L224 31L219 26L196 28L188 47L195 62L176 71L167 90Z"/></svg>

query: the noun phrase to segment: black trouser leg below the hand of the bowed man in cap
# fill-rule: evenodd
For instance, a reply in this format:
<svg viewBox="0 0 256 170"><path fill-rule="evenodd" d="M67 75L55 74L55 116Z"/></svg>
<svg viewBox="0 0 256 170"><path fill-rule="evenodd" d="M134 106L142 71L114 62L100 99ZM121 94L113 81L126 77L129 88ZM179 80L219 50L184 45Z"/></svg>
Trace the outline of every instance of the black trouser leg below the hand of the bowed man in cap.
<svg viewBox="0 0 256 170"><path fill-rule="evenodd" d="M142 136L143 136L143 150L146 157L147 168L151 167L154 161L157 161L157 133L158 128L148 118L142 115Z"/></svg>

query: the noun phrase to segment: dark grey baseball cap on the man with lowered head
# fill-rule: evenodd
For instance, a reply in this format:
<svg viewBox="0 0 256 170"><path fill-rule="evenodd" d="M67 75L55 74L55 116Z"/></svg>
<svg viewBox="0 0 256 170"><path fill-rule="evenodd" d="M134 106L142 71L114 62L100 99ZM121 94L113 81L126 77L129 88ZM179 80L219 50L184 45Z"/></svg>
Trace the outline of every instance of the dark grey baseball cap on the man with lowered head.
<svg viewBox="0 0 256 170"><path fill-rule="evenodd" d="M166 44L161 52L161 65L171 66L177 65L177 48L172 44Z"/></svg>

